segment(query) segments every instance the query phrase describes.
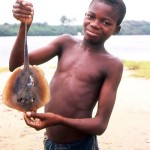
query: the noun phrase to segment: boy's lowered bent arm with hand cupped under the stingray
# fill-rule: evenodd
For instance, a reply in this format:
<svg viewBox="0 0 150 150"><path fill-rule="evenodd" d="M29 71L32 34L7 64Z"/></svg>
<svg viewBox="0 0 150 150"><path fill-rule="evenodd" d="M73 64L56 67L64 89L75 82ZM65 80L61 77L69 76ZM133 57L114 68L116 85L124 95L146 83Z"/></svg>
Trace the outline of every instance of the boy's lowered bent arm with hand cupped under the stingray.
<svg viewBox="0 0 150 150"><path fill-rule="evenodd" d="M123 66L122 63L117 63L116 67L113 66L111 68L112 69L110 69L107 74L106 80L100 91L98 111L94 118L72 119L52 113L39 114L35 112L27 112L24 115L27 125L36 130L40 130L51 125L63 124L81 130L87 134L103 134L107 128L114 107ZM30 118L34 118L34 120L30 120Z"/></svg>

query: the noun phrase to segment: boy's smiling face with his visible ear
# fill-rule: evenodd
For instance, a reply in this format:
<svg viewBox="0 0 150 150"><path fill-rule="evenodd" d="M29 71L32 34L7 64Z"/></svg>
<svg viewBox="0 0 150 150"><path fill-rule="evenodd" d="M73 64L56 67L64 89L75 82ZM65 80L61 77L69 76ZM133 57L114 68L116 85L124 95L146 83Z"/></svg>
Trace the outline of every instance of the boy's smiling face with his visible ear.
<svg viewBox="0 0 150 150"><path fill-rule="evenodd" d="M105 42L120 30L118 17L113 7L104 3L93 3L84 19L84 38L90 42Z"/></svg>

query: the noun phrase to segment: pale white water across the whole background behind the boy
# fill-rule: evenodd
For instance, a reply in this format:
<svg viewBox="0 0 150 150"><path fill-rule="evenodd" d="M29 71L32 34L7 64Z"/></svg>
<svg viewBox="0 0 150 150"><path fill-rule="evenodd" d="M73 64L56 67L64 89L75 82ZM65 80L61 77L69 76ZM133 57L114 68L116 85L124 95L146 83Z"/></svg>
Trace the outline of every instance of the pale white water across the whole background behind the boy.
<svg viewBox="0 0 150 150"><path fill-rule="evenodd" d="M47 45L54 38L56 36L29 36L29 51ZM0 37L0 66L8 66L15 39L16 37ZM150 60L150 36L112 36L105 47L111 54L124 60Z"/></svg>

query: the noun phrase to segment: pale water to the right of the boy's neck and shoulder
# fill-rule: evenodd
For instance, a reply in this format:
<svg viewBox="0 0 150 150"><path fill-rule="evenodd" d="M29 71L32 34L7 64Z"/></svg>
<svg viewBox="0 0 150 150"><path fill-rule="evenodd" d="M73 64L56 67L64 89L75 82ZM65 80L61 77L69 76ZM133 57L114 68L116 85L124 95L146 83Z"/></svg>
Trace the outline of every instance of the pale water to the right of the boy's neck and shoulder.
<svg viewBox="0 0 150 150"><path fill-rule="evenodd" d="M106 47L124 60L150 60L150 36L113 36Z"/></svg>

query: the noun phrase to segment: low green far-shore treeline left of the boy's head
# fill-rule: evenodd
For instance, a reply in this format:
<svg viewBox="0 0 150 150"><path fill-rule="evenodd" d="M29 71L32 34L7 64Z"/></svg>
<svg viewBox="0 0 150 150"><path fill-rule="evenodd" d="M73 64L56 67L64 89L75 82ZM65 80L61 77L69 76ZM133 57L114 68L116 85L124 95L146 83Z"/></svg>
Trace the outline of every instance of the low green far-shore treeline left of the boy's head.
<svg viewBox="0 0 150 150"><path fill-rule="evenodd" d="M16 36L18 33L19 24L8 24L5 23L0 25L0 36ZM82 33L81 26L70 26L70 25L58 25L52 26L47 23L33 23L28 35L29 36L56 36L63 33L77 35Z"/></svg>

